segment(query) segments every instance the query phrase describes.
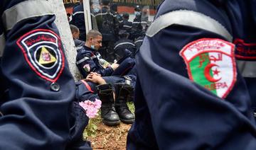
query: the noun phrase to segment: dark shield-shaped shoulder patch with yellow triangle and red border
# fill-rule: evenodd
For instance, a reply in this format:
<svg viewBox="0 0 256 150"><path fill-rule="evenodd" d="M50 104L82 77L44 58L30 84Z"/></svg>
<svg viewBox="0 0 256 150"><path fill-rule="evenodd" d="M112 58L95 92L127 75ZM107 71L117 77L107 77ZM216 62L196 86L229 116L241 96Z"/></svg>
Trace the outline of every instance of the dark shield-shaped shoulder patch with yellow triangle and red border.
<svg viewBox="0 0 256 150"><path fill-rule="evenodd" d="M55 82L65 66L60 37L52 30L36 29L17 40L26 62L38 76Z"/></svg>

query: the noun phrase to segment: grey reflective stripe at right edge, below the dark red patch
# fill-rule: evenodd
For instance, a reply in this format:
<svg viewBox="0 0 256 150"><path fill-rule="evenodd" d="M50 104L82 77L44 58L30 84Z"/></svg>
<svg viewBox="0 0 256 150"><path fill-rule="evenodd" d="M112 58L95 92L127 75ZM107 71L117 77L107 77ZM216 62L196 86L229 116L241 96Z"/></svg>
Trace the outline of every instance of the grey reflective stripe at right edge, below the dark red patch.
<svg viewBox="0 0 256 150"><path fill-rule="evenodd" d="M256 77L256 62L237 60L238 69L243 77L255 78Z"/></svg>

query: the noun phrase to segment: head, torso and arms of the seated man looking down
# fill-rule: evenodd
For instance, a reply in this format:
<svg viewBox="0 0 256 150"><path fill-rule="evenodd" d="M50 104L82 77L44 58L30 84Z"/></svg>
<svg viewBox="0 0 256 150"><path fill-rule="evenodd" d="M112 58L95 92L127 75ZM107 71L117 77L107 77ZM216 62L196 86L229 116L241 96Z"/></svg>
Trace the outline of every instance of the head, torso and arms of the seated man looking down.
<svg viewBox="0 0 256 150"><path fill-rule="evenodd" d="M83 47L78 50L76 64L80 73L84 78L90 72L96 72L101 76L110 76L119 64L112 64L107 68L100 64L100 53L97 50L102 47L102 34L97 30L90 30L86 36L86 42Z"/></svg>

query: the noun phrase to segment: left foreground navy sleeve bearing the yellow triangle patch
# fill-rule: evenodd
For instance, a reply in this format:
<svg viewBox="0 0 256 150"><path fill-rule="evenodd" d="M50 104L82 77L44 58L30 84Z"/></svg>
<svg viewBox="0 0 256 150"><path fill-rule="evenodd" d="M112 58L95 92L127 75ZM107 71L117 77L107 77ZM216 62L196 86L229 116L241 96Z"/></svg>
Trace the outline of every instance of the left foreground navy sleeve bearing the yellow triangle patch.
<svg viewBox="0 0 256 150"><path fill-rule="evenodd" d="M49 1L1 1L6 45L0 149L65 149L75 83ZM0 45L1 47L2 45Z"/></svg>

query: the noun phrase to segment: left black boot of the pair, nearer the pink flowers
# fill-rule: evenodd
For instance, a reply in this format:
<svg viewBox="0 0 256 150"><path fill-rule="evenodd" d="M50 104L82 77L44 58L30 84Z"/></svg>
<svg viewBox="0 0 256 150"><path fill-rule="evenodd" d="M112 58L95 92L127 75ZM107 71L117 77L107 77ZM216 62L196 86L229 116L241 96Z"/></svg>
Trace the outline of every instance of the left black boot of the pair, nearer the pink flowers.
<svg viewBox="0 0 256 150"><path fill-rule="evenodd" d="M101 117L106 125L118 125L120 123L116 110L114 109L114 98L111 84L97 86L97 94L102 100Z"/></svg>

